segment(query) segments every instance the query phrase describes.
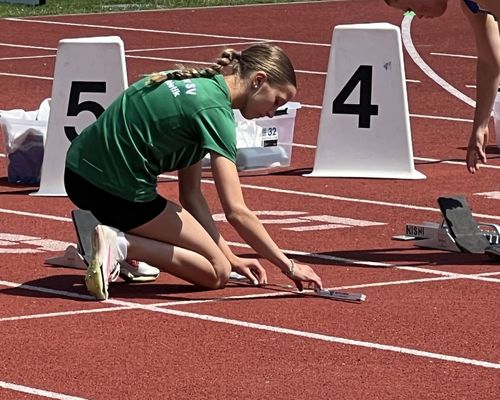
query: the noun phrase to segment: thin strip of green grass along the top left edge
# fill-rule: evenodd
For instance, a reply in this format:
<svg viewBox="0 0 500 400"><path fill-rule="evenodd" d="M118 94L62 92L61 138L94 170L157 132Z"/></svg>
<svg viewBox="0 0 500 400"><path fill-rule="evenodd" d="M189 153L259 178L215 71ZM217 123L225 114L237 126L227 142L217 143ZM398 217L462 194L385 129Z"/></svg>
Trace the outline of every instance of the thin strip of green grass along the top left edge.
<svg viewBox="0 0 500 400"><path fill-rule="evenodd" d="M8 0L0 0L0 17L157 10L179 7L208 7L258 3L291 3L297 0L46 0L46 4L38 6L8 4L4 3L4 1Z"/></svg>

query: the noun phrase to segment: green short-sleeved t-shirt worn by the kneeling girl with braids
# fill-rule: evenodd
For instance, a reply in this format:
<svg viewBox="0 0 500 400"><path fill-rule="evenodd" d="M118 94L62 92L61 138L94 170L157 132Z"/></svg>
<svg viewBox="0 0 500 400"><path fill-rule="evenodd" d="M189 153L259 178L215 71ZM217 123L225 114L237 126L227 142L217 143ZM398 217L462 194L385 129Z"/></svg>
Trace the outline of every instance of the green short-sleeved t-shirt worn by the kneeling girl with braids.
<svg viewBox="0 0 500 400"><path fill-rule="evenodd" d="M130 201L156 196L157 176L214 151L236 162L236 127L222 75L141 79L71 143L66 166L97 187Z"/></svg>

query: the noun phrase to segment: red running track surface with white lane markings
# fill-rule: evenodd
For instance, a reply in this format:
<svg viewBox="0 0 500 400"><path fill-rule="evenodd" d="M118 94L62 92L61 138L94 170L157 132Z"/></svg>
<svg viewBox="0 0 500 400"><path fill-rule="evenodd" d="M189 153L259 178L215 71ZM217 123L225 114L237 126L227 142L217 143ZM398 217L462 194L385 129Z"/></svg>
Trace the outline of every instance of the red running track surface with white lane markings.
<svg viewBox="0 0 500 400"><path fill-rule="evenodd" d="M247 202L264 212L278 244L312 265L326 286L367 295L356 305L236 285L199 291L164 274L150 284L117 282L112 299L91 301L83 271L44 263L75 241L71 203L9 185L2 157L0 398L500 397L500 266L391 239L407 222L440 222L436 198L447 194L465 195L479 219L500 218L496 148L489 148L489 167L475 176L462 162L473 109L405 53L413 150L427 179L302 177L313 166L332 29L374 21L400 26L400 13L381 3L0 20L3 110L33 110L50 97L62 38L119 35L130 82L175 60L212 59L214 46L244 46L252 38L281 45L300 71L296 100L303 108L292 165L242 176ZM474 98L466 86L474 84L474 60L457 56L474 56L473 39L450 3L440 20L413 21L411 39L438 75ZM200 45L206 47L193 47ZM204 188L220 213L208 174ZM160 191L176 198L175 180L164 178ZM286 223L283 212L302 219ZM369 223L318 231L309 217ZM235 251L253 254L226 223L219 225ZM286 283L263 263L273 282Z"/></svg>

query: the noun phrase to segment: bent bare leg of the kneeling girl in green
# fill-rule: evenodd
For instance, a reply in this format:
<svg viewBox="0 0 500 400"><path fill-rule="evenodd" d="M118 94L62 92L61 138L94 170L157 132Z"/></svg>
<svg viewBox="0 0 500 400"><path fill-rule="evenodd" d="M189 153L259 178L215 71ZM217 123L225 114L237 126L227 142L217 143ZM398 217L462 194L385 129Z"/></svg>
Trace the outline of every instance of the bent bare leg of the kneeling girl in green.
<svg viewBox="0 0 500 400"><path fill-rule="evenodd" d="M128 258L210 289L224 287L231 265L208 232L169 201L152 221L128 231Z"/></svg>

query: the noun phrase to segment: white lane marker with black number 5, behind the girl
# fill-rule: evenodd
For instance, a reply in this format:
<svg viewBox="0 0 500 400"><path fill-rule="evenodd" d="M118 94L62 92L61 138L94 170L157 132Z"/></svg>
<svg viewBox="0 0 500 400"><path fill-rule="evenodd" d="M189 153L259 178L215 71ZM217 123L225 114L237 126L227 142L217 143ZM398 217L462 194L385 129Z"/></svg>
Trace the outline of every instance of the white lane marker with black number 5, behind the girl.
<svg viewBox="0 0 500 400"><path fill-rule="evenodd" d="M125 51L118 36L59 42L40 189L35 195L66 196L63 175L71 141L127 85Z"/></svg>

